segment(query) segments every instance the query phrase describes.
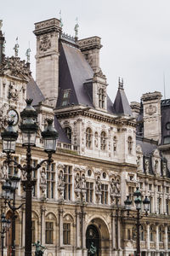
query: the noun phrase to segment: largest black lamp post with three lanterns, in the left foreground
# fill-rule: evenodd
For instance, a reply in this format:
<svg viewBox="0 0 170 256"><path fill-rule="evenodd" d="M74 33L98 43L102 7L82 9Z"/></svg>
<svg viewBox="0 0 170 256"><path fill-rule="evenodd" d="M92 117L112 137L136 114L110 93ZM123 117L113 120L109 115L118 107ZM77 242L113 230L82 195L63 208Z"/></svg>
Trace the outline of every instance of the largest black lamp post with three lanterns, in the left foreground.
<svg viewBox="0 0 170 256"><path fill-rule="evenodd" d="M52 154L56 150L56 141L58 132L52 126L53 120L47 119L48 125L42 131L42 139L44 141L44 151L48 154L48 159L42 160L37 166L31 165L31 148L36 146L37 137L37 111L31 106L31 99L26 100L26 108L20 113L21 124L20 131L22 134L22 146L26 148L26 166L21 166L12 159L11 154L15 152L15 144L18 132L14 131L13 122L8 121L8 127L2 132L3 152L7 154L6 163L9 165L14 162L21 172L26 172L26 182L24 183L26 191L26 240L25 240L25 256L31 256L31 199L32 185L31 172L37 171L43 163L49 165L53 162Z"/></svg>

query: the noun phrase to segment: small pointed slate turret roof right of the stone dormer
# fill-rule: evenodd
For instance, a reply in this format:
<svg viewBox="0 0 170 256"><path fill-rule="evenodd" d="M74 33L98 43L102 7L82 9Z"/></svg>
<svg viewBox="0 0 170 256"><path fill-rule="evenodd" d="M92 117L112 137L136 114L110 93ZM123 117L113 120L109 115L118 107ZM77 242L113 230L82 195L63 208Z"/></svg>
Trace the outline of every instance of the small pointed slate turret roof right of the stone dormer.
<svg viewBox="0 0 170 256"><path fill-rule="evenodd" d="M113 104L115 113L127 116L133 116L130 105L127 101L127 96L124 92L122 83L119 83L119 88L117 90L116 99Z"/></svg>

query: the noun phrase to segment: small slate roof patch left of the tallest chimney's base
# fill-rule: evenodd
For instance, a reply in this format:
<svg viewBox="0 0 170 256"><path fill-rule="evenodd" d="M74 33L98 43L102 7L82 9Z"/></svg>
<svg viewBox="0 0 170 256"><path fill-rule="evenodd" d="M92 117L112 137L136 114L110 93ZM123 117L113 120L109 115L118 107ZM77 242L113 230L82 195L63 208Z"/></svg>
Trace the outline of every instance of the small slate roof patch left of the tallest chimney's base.
<svg viewBox="0 0 170 256"><path fill-rule="evenodd" d="M33 106L45 100L45 97L42 95L42 91L39 89L34 79L31 79L30 82L26 84L26 98L33 99Z"/></svg>

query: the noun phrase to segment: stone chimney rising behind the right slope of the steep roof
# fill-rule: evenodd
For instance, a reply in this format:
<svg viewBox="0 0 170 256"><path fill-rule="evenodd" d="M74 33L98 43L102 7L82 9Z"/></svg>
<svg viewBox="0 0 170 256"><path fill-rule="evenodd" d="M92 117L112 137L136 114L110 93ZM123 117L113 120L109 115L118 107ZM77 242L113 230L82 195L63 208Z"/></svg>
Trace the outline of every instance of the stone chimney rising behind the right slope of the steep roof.
<svg viewBox="0 0 170 256"><path fill-rule="evenodd" d="M99 37L84 38L78 40L77 44L85 56L94 73L99 73L99 49L102 48Z"/></svg>

